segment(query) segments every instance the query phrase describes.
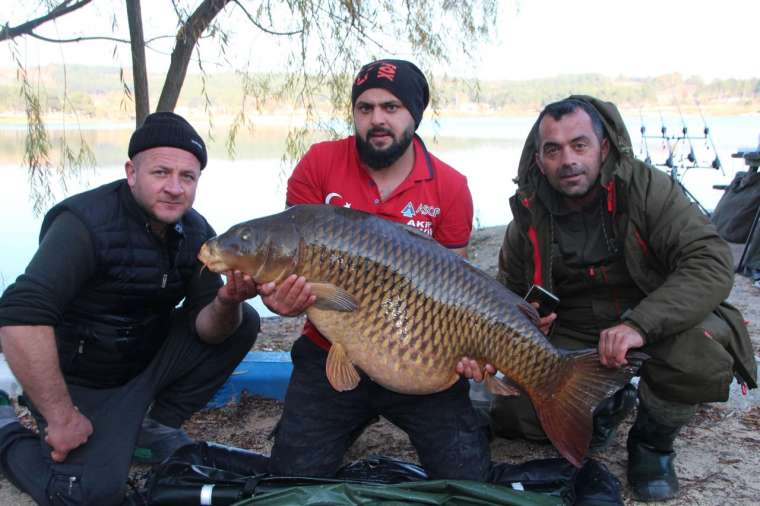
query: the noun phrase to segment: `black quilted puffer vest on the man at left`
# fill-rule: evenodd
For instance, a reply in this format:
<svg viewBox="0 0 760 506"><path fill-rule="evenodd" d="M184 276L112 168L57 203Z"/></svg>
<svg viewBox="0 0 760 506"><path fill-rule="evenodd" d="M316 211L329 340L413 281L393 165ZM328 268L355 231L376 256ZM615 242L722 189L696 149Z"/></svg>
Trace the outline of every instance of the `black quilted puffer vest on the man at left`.
<svg viewBox="0 0 760 506"><path fill-rule="evenodd" d="M43 220L40 240L63 211L89 230L95 275L56 327L61 370L74 384L122 385L148 365L164 342L172 310L196 272L196 254L213 230L191 209L162 241L151 232L125 180L53 207Z"/></svg>

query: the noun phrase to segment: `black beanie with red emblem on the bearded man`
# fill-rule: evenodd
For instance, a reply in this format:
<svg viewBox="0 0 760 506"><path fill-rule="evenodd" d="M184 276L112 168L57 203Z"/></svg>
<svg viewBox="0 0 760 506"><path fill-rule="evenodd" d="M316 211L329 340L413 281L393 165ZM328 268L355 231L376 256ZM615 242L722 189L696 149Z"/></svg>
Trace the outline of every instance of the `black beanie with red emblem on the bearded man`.
<svg viewBox="0 0 760 506"><path fill-rule="evenodd" d="M371 88L383 88L393 93L414 118L414 128L420 126L422 113L430 101L427 79L414 63L406 60L377 60L363 66L351 88L351 105Z"/></svg>

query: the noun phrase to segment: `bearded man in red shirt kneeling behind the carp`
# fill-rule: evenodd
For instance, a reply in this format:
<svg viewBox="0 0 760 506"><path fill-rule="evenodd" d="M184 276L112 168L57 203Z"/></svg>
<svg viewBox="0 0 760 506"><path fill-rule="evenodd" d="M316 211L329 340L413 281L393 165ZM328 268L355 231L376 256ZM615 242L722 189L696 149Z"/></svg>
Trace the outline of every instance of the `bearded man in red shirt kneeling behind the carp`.
<svg viewBox="0 0 760 506"><path fill-rule="evenodd" d="M287 205L360 209L412 226L466 256L473 214L467 180L415 134L429 101L425 76L407 61L379 60L359 71L351 99L355 135L311 147L288 180ZM259 288L280 315L300 314L315 300L303 277ZM404 395L363 375L356 389L338 392L325 375L329 347L307 321L291 352L293 375L275 432L272 473L333 475L364 427L382 415L409 435L431 478L487 478L487 430L466 380L436 394Z"/></svg>

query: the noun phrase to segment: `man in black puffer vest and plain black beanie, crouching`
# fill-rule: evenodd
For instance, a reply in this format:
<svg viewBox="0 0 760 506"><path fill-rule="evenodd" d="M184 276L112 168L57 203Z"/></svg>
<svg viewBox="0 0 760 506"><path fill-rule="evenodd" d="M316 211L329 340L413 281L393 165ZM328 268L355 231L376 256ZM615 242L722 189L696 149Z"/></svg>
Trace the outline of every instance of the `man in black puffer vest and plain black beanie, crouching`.
<svg viewBox="0 0 760 506"><path fill-rule="evenodd" d="M203 140L154 113L128 155L126 179L48 211L37 253L0 299L3 353L39 428L0 406L0 470L40 504L120 504L133 455L191 443L181 424L259 331L244 304L253 280L228 272L223 284L196 259L215 235L192 209Z"/></svg>

